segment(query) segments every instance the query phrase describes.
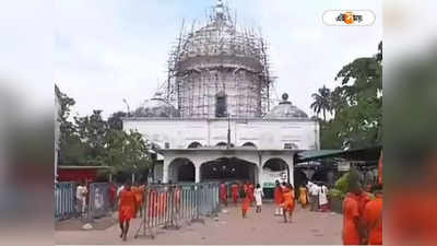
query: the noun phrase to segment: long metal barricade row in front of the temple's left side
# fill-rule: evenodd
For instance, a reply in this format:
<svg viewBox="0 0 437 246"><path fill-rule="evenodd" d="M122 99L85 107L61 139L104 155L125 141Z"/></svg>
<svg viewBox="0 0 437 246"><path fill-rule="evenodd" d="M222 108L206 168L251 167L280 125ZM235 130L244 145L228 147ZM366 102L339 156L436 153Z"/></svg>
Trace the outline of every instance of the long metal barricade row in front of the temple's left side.
<svg viewBox="0 0 437 246"><path fill-rule="evenodd" d="M179 229L217 215L218 183L154 185L144 191L143 218L134 237L154 238L154 229Z"/></svg>

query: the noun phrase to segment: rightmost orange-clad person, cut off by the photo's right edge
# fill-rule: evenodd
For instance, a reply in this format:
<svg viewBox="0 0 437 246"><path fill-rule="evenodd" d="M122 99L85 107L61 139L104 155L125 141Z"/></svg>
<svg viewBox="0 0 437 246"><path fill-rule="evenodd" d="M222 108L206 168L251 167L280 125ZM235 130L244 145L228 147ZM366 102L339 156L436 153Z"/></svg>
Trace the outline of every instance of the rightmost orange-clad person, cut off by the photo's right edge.
<svg viewBox="0 0 437 246"><path fill-rule="evenodd" d="M364 210L369 245L382 245L382 186L374 188L376 198Z"/></svg>

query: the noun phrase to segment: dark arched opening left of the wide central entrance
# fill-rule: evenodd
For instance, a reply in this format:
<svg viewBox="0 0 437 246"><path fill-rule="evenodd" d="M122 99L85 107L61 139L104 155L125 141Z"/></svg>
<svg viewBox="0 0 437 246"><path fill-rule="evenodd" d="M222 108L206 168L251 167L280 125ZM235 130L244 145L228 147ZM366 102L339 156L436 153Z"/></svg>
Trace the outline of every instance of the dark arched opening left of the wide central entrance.
<svg viewBox="0 0 437 246"><path fill-rule="evenodd" d="M194 183L194 164L188 159L175 159L168 166L168 180Z"/></svg>

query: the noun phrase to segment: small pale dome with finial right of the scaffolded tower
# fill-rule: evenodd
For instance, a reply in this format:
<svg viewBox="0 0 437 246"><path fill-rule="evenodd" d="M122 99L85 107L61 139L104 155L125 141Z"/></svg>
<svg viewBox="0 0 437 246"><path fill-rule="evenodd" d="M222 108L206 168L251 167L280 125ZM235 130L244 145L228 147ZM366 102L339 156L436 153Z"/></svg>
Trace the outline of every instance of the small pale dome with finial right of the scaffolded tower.
<svg viewBox="0 0 437 246"><path fill-rule="evenodd" d="M304 110L297 108L288 101L288 94L282 95L282 102L270 110L265 118L268 119L294 119L308 118Z"/></svg>

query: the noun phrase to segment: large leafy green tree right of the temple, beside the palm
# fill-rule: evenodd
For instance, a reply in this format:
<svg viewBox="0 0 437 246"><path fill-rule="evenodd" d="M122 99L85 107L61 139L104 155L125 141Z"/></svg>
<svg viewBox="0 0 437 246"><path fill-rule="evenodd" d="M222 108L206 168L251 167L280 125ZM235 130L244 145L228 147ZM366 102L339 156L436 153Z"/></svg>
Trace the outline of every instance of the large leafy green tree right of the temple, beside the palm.
<svg viewBox="0 0 437 246"><path fill-rule="evenodd" d="M374 57L357 58L344 66L335 81L340 81L340 85L331 93L329 106L334 118L321 127L321 147L344 149L380 144L382 43Z"/></svg>

